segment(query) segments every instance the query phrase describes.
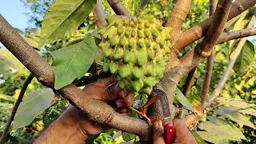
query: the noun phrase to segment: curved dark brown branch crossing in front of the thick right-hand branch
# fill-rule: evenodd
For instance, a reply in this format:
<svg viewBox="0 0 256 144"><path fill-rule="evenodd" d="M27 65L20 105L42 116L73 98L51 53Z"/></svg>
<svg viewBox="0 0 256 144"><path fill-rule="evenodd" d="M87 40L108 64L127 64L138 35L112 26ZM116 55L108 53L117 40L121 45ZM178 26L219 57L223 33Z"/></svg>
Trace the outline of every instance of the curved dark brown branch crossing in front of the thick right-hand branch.
<svg viewBox="0 0 256 144"><path fill-rule="evenodd" d="M195 66L198 66L204 58L210 56L213 46L218 42L224 30L226 19L230 11L230 4L231 0L220 0L218 2L218 9L214 13L214 24L210 26L206 38L181 59L180 70L183 74L188 73Z"/></svg>

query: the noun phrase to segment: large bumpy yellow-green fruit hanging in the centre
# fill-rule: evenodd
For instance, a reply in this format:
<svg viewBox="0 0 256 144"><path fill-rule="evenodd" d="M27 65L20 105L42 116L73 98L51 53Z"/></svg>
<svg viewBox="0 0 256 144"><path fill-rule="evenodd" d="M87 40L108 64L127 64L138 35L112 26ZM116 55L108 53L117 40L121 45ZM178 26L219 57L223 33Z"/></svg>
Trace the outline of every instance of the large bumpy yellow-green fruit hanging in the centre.
<svg viewBox="0 0 256 144"><path fill-rule="evenodd" d="M171 28L150 15L110 16L107 22L109 25L99 30L103 70L110 70L127 92L149 95L166 70Z"/></svg>

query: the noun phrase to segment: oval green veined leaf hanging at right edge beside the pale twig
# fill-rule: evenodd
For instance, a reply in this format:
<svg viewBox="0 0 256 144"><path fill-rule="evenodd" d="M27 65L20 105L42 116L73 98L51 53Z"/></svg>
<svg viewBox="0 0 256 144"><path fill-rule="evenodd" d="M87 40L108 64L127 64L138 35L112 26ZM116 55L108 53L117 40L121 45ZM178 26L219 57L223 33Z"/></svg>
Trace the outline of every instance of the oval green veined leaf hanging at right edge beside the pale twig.
<svg viewBox="0 0 256 144"><path fill-rule="evenodd" d="M254 44L250 41L246 41L234 63L234 71L238 74L246 74L247 70L249 70L250 63L254 62L254 54Z"/></svg>

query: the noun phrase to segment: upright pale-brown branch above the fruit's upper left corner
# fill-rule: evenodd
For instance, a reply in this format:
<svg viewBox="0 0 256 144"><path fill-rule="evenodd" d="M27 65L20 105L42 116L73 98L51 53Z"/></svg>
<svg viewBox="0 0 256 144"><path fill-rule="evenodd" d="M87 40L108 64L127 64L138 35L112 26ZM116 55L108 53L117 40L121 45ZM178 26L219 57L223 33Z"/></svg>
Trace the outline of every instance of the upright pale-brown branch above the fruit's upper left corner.
<svg viewBox="0 0 256 144"><path fill-rule="evenodd" d="M98 27L98 29L101 29L103 26L107 25L106 15L104 13L103 6L102 6L102 0L97 0L97 4L95 6L93 14L94 14L94 20L96 22L96 26Z"/></svg>

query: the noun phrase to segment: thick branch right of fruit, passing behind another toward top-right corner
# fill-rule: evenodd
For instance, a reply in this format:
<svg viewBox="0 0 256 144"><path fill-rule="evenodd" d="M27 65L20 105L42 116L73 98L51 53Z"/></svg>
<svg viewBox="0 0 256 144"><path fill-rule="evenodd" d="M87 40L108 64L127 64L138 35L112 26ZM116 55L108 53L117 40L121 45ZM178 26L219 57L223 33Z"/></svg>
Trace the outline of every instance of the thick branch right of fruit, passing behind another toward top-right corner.
<svg viewBox="0 0 256 144"><path fill-rule="evenodd" d="M236 17L238 14L241 14L243 11L249 9L255 4L256 0L236 0L231 6L228 20ZM202 38L212 23L214 23L214 21L213 18L210 17L201 22L198 26L193 26L190 30L187 30L184 34L182 34L182 37L175 44L175 49L182 50L186 46L190 45L190 43Z"/></svg>

